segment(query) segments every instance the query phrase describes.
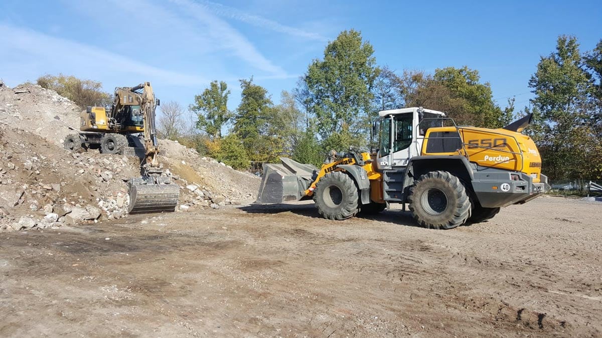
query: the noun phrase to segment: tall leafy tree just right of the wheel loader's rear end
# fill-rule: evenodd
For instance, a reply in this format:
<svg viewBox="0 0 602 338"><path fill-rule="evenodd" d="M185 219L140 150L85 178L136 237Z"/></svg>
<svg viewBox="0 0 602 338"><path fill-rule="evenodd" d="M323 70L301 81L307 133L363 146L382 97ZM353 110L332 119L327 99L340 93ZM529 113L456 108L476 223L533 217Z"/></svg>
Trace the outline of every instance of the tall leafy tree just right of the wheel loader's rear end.
<svg viewBox="0 0 602 338"><path fill-rule="evenodd" d="M553 179L599 177L602 140L593 118L596 88L576 37L558 38L556 51L539 60L529 87L537 113L534 139L546 173Z"/></svg>

